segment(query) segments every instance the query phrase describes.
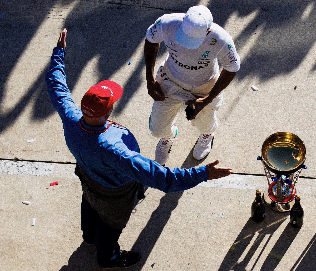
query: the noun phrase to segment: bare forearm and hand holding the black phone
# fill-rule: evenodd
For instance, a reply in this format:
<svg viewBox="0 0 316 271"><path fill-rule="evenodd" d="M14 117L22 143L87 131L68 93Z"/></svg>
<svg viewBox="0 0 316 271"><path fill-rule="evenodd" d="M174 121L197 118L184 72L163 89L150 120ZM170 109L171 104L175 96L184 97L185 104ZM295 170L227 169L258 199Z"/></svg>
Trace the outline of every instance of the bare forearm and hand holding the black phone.
<svg viewBox="0 0 316 271"><path fill-rule="evenodd" d="M197 114L209 103L211 103L215 97L222 92L234 79L237 72L228 72L223 68L219 78L217 79L215 85L204 98L198 98L196 100L189 100L185 104L194 104L194 112L190 120L194 120Z"/></svg>

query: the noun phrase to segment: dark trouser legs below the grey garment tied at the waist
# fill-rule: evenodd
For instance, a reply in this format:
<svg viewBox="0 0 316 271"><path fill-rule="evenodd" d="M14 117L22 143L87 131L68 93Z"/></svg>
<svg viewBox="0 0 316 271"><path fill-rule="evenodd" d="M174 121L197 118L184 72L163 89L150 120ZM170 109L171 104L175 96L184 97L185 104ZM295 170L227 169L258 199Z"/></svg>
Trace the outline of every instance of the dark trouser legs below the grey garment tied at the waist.
<svg viewBox="0 0 316 271"><path fill-rule="evenodd" d="M99 264L110 264L120 256L118 240L122 229L113 229L104 223L84 197L81 202L81 230L83 240L88 244L95 244Z"/></svg>

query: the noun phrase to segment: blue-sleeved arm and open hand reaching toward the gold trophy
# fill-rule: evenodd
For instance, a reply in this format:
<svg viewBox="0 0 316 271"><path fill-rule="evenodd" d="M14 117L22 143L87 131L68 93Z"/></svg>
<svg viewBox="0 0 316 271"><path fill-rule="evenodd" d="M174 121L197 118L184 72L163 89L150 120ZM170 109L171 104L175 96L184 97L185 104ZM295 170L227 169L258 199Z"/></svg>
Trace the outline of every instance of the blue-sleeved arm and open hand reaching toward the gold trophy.
<svg viewBox="0 0 316 271"><path fill-rule="evenodd" d="M162 167L140 153L122 148L117 145L114 151L104 151L104 164L145 186L157 188L165 193L187 190L201 182L233 173L231 168L217 167L218 160L198 168Z"/></svg>

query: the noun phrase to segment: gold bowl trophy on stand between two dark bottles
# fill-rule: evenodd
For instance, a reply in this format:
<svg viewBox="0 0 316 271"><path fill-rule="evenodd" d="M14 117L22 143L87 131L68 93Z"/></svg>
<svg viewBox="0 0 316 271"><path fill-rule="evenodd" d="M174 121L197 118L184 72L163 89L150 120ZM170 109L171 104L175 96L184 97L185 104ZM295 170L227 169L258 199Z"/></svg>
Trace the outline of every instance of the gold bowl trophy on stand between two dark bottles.
<svg viewBox="0 0 316 271"><path fill-rule="evenodd" d="M278 132L264 140L261 148L261 160L268 180L268 189L264 191L264 201L278 212L286 212L294 205L296 182L304 165L306 148L297 135Z"/></svg>

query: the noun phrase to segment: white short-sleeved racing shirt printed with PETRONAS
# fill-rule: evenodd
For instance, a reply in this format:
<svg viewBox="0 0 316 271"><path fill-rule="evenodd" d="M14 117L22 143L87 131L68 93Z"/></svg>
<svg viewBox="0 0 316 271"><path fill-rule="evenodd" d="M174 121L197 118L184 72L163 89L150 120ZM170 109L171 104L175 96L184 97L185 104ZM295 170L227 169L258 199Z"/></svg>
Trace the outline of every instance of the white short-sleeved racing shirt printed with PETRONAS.
<svg viewBox="0 0 316 271"><path fill-rule="evenodd" d="M191 50L177 43L175 36L184 16L184 13L162 15L146 32L149 42L163 41L167 47L169 53L165 65L169 72L185 84L192 85L204 84L213 79L219 70L217 59L227 71L237 72L240 68L240 57L234 41L216 23L212 23L212 32L205 37L199 48Z"/></svg>

